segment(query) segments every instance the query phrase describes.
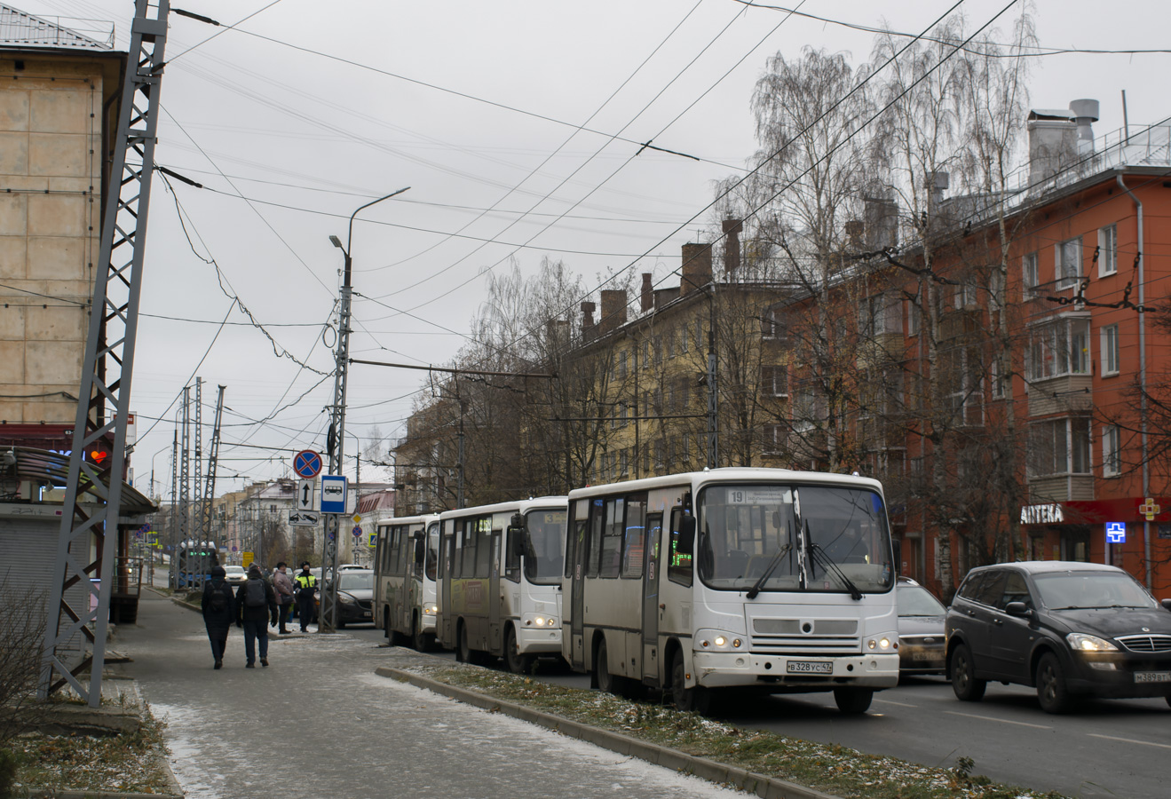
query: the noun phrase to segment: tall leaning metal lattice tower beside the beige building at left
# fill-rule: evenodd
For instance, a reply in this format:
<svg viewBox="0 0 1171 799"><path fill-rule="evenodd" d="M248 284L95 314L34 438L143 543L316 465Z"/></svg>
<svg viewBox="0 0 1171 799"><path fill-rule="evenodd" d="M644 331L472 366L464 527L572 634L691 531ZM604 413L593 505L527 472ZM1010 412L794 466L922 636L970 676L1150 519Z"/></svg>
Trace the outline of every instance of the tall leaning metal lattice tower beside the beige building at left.
<svg viewBox="0 0 1171 799"><path fill-rule="evenodd" d="M49 619L39 694L48 696L69 684L93 708L98 706L102 698L105 636L114 593L126 421L170 11L170 0L135 0L118 132L114 138L110 183L105 187L101 260L94 273L94 299L69 455L69 482L49 605L46 606ZM109 465L101 469L85 462L84 453L98 442L109 441L111 435ZM87 499L83 506L82 498L87 496L93 499ZM91 545L96 545L97 560L87 562ZM95 572L101 578L96 585L90 581ZM87 587L85 601L73 607L67 592L77 583ZM90 602L90 596L97 602ZM70 665L63 656L78 634L85 636L93 650ZM87 670L89 682L83 685L81 675ZM60 675L57 680L54 672Z"/></svg>

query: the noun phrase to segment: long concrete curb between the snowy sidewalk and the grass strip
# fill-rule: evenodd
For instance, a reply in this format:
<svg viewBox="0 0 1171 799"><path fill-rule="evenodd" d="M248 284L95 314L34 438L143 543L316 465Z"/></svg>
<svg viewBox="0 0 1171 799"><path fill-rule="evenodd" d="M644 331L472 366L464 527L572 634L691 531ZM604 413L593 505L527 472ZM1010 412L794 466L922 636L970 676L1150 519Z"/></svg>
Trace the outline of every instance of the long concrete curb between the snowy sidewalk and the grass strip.
<svg viewBox="0 0 1171 799"><path fill-rule="evenodd" d="M685 774L693 774L711 783L731 785L741 791L746 791L747 793L762 797L762 799L838 799L838 797L833 794L807 788L803 785L797 785L796 783L773 779L772 777L758 774L746 769L730 766L726 763L718 763L717 760L710 760L693 754L685 754L684 752L677 752L673 749L667 749L657 744L648 744L646 742L631 738L630 736L624 736L621 732L602 730L596 726L562 718L561 716L553 716L552 713L532 710L530 708L513 704L512 702L493 699L489 696L477 694L464 688L447 685L434 680L422 677L417 674L403 671L402 669L383 665L375 669L375 674L379 677L389 677L402 683L409 683L416 688L424 688L429 691L433 691L441 696L446 696L477 708L482 708L493 712L501 712L506 716L519 718L522 722L540 724L541 726L560 732L563 736L596 744L602 749L608 749L611 752L617 752L618 754L637 757L642 760L646 760L648 763L653 763L666 769L673 769L674 771L679 771Z"/></svg>

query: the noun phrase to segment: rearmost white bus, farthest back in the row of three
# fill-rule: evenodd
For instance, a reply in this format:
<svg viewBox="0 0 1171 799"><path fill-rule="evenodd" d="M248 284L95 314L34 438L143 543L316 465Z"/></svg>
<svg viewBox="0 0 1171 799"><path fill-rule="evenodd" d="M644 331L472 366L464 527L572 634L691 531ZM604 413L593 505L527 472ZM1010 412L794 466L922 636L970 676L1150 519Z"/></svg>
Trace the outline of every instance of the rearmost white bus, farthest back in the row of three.
<svg viewBox="0 0 1171 799"><path fill-rule="evenodd" d="M426 651L436 640L439 514L388 519L374 551L374 623L392 644Z"/></svg>

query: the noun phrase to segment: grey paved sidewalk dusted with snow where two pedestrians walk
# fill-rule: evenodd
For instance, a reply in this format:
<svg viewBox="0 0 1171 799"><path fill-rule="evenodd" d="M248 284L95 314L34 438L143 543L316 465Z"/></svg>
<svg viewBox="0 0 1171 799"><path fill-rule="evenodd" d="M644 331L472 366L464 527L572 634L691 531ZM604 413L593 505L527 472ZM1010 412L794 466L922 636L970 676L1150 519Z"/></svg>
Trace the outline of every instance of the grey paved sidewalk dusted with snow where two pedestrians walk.
<svg viewBox="0 0 1171 799"><path fill-rule="evenodd" d="M745 794L375 675L423 660L345 634L273 637L244 668L233 629L220 671L198 613L144 590L118 664L169 723L187 797L731 798Z"/></svg>

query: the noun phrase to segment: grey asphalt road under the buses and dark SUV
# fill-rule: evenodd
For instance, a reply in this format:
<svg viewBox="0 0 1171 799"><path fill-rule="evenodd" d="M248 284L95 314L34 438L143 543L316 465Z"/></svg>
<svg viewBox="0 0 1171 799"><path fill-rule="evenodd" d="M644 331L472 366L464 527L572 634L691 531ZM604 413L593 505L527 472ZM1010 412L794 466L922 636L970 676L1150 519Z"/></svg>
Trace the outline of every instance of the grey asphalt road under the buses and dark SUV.
<svg viewBox="0 0 1171 799"><path fill-rule="evenodd" d="M370 627L349 631L382 640ZM536 677L589 687L586 675L563 668L541 668ZM807 694L733 699L720 718L929 766L951 767L970 757L975 774L1070 797L1171 795L1163 773L1171 708L1163 699L1087 699L1070 713L1050 716L1033 689L992 683L982 702L970 703L959 702L943 677L910 677L876 694L860 717L840 713L830 694Z"/></svg>

